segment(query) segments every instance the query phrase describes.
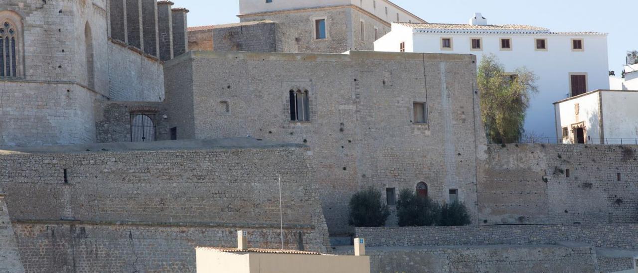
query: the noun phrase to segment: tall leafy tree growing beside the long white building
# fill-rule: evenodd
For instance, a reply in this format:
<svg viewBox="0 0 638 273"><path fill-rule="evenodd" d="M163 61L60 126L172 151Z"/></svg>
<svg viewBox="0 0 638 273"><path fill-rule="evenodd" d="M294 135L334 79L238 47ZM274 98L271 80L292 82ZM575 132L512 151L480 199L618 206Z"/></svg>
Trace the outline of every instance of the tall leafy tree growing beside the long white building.
<svg viewBox="0 0 638 273"><path fill-rule="evenodd" d="M487 139L501 144L517 142L524 133L523 122L530 97L538 92L537 76L526 68L508 75L498 58L488 54L479 64L477 80Z"/></svg>

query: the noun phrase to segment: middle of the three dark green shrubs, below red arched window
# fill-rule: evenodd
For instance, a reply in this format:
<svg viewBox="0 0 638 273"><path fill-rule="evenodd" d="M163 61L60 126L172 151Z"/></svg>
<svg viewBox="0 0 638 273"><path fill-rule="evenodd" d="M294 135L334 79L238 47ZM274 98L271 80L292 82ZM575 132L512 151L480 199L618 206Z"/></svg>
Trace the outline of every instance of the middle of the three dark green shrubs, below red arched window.
<svg viewBox="0 0 638 273"><path fill-rule="evenodd" d="M433 226L438 222L441 206L427 197L403 189L397 201L399 226Z"/></svg>

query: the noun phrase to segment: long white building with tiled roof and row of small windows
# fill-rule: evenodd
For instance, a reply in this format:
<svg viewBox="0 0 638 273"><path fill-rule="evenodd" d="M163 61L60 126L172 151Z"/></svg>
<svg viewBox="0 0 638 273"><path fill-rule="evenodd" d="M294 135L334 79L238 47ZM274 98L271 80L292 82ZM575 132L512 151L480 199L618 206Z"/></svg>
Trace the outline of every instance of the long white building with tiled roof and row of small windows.
<svg viewBox="0 0 638 273"><path fill-rule="evenodd" d="M470 24L392 23L375 51L494 54L505 70L526 67L538 76L526 133L554 137L552 103L595 89L609 89L607 34L553 32L544 27L489 25L477 13Z"/></svg>

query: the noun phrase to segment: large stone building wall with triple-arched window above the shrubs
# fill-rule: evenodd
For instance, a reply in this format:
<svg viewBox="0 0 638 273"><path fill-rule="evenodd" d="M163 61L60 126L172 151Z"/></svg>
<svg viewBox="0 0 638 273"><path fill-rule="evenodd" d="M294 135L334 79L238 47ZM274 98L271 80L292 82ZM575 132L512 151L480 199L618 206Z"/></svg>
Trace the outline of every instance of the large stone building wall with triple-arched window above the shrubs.
<svg viewBox="0 0 638 273"><path fill-rule="evenodd" d="M385 195L423 181L432 198L446 202L449 189L459 189L473 210L474 139L484 135L473 61L450 54L190 52L165 66L167 75L193 71L190 90L186 78L167 76L168 100L179 96L181 103L167 101L181 111L171 126L183 126L175 115L192 115L194 138L308 144L331 233L353 231L348 200L369 186ZM290 121L290 90L309 91L310 122ZM428 124L413 122L415 101L427 101ZM180 139L191 136L181 132Z"/></svg>

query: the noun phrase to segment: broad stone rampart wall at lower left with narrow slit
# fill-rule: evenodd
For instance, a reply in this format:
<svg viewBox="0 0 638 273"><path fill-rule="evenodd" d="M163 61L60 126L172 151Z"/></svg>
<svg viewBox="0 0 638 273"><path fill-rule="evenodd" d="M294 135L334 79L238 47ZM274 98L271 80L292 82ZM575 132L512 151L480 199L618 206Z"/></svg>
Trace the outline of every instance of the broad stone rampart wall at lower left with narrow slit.
<svg viewBox="0 0 638 273"><path fill-rule="evenodd" d="M278 246L278 175L285 247L326 250L308 147L205 147L0 156L27 272L194 272L195 246L235 246L240 228Z"/></svg>

